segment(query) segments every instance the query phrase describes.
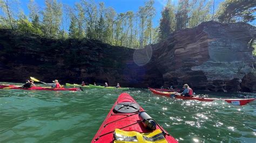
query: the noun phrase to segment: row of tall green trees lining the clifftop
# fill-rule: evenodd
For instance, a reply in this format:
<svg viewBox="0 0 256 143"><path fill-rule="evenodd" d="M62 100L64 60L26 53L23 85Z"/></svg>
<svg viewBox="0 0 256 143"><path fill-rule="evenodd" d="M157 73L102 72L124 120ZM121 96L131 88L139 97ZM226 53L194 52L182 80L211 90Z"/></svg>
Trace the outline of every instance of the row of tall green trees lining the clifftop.
<svg viewBox="0 0 256 143"><path fill-rule="evenodd" d="M22 13L17 1L0 0L0 27L55 39L96 39L131 48L143 48L165 40L175 31L214 19L210 12L214 0L179 0L177 6L168 0L158 27L153 27L152 22L156 16L154 0L147 0L138 12L123 13L105 8L103 2L95 0L80 0L73 7L63 6L60 0L44 0L44 8L30 0L28 16ZM255 17L255 3L226 0L220 4L215 17L220 22L251 22Z"/></svg>

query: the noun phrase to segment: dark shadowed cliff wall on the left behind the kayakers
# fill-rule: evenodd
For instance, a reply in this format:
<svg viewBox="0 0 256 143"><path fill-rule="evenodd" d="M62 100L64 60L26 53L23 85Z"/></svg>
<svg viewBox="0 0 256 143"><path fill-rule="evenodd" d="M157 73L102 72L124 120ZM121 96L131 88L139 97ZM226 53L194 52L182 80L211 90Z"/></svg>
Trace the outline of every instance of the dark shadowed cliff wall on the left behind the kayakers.
<svg viewBox="0 0 256 143"><path fill-rule="evenodd" d="M0 81L25 82L30 76L44 82L120 83L152 87L163 83L153 65L133 62L134 49L96 40L53 40L0 30ZM154 80L158 79L158 80Z"/></svg>

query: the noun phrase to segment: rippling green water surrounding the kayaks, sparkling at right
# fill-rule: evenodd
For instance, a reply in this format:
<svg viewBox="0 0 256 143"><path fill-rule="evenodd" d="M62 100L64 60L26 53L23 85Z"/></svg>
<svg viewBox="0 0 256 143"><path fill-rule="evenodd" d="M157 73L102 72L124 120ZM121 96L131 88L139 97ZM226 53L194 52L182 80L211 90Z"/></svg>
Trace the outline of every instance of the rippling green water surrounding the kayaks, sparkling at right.
<svg viewBox="0 0 256 143"><path fill-rule="evenodd" d="M90 142L121 92L0 89L0 142ZM256 141L255 101L234 106L126 92L180 142Z"/></svg>

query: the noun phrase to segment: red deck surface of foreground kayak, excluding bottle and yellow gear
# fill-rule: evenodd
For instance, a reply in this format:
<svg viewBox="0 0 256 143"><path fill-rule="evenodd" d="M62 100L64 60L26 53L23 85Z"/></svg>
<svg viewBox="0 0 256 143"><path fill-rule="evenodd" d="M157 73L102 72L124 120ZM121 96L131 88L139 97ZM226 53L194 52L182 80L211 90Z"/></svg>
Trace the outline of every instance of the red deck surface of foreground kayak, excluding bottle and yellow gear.
<svg viewBox="0 0 256 143"><path fill-rule="evenodd" d="M119 113L116 111L116 108L133 108L133 106L126 107L125 104L133 104L138 103L134 101L134 99L126 93L121 94L116 103L114 103L112 109L110 110L109 114L107 115L106 119L103 121L102 125L100 126L98 132L96 133L95 137L92 139L91 142L113 142L114 141L114 131L116 128L119 128L123 131L137 131L139 133L149 133L152 132L148 128L144 126L141 119L139 118L139 113L144 111L142 107L139 107L138 111L132 113ZM123 104L123 105L122 105ZM116 106L117 105L117 106ZM120 108L119 106L120 105ZM116 106L116 107L115 107ZM160 127L157 124L156 130L160 129L164 131L166 134L164 135L167 142L178 142L175 140L169 133L167 133L163 127Z"/></svg>

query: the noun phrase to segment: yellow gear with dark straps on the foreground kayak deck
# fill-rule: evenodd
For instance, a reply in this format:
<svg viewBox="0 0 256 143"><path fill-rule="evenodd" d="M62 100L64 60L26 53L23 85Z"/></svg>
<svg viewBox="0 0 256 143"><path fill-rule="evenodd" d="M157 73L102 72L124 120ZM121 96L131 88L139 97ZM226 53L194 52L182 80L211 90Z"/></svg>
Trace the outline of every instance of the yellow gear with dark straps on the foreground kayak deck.
<svg viewBox="0 0 256 143"><path fill-rule="evenodd" d="M167 140L161 130L155 130L150 133L139 133L136 131L123 131L118 128L114 130L114 143L134 143L134 142L145 142L145 143L166 143Z"/></svg>

